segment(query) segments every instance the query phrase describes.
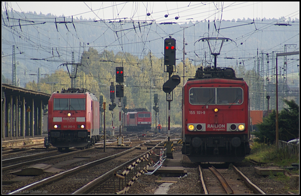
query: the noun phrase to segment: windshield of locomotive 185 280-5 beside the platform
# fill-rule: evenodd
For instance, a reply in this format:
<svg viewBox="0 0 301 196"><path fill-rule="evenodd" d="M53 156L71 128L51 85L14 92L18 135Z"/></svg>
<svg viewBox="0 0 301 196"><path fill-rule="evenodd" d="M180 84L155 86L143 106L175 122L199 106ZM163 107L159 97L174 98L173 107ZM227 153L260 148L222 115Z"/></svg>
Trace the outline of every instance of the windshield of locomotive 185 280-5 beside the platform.
<svg viewBox="0 0 301 196"><path fill-rule="evenodd" d="M54 99L53 110L85 110L85 99Z"/></svg>

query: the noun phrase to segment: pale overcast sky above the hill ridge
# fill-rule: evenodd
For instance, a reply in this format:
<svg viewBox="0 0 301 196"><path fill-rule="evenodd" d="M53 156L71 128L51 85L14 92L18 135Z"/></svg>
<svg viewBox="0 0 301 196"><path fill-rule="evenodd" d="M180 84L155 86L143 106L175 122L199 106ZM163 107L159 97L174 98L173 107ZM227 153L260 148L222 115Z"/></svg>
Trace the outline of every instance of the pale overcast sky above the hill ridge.
<svg viewBox="0 0 301 196"><path fill-rule="evenodd" d="M8 2L16 11L83 18L186 22L237 18L299 17L300 2ZM10 8L10 9L11 9ZM91 11L91 8L93 11ZM4 2L2 2L2 10ZM147 16L150 13L150 16ZM168 17L164 17L168 14ZM178 20L175 17L179 17Z"/></svg>

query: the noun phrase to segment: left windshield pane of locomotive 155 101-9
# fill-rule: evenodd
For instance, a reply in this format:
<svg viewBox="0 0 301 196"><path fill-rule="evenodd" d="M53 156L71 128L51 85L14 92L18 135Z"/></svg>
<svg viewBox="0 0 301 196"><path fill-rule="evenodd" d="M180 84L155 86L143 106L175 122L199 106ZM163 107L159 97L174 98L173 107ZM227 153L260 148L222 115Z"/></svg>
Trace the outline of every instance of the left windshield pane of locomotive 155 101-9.
<svg viewBox="0 0 301 196"><path fill-rule="evenodd" d="M215 104L215 88L191 88L189 102L191 104Z"/></svg>

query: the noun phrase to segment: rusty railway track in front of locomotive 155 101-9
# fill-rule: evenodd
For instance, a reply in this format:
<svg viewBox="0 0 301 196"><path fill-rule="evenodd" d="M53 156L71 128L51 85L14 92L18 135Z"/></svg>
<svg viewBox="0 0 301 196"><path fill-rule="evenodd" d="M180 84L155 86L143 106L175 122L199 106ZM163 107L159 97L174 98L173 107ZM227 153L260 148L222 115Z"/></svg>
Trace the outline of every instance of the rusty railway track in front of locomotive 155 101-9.
<svg viewBox="0 0 301 196"><path fill-rule="evenodd" d="M265 194L235 166L232 169L198 167L204 194Z"/></svg>

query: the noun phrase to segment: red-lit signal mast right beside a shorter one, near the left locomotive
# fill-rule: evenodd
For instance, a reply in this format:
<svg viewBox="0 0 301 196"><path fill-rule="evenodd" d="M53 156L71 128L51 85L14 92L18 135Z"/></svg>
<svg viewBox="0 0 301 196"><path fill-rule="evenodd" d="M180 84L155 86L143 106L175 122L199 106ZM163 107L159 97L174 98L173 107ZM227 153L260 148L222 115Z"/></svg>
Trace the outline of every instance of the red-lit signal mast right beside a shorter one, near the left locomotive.
<svg viewBox="0 0 301 196"><path fill-rule="evenodd" d="M116 97L118 98L118 107L119 107L119 137L118 137L118 145L123 145L123 136L121 136L121 97L124 94L123 83L124 81L124 73L123 67L116 67Z"/></svg>

